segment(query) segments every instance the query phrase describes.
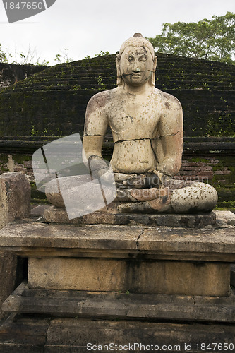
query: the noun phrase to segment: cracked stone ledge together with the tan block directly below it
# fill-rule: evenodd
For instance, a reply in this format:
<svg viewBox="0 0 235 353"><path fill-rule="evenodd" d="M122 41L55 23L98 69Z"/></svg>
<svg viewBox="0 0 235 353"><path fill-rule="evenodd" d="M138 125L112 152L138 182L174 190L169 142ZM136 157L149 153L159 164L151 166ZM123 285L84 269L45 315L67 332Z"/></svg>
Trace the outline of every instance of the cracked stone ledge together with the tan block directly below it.
<svg viewBox="0 0 235 353"><path fill-rule="evenodd" d="M18 223L1 249L28 257L31 289L228 297L234 228Z"/></svg>

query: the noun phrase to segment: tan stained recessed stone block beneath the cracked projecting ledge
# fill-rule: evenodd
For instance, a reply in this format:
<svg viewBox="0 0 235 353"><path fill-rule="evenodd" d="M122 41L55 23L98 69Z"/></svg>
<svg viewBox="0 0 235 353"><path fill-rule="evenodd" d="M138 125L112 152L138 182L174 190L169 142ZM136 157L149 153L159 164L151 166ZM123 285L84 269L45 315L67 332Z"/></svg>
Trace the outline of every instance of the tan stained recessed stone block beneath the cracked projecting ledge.
<svg viewBox="0 0 235 353"><path fill-rule="evenodd" d="M30 288L225 297L229 263L138 258L29 258Z"/></svg>

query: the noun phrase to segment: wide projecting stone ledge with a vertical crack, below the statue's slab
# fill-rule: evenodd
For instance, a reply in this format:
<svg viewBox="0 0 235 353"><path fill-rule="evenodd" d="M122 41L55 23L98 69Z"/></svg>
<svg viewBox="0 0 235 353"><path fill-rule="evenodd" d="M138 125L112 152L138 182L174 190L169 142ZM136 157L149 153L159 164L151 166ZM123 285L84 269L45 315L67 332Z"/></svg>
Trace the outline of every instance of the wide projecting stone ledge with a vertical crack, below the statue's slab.
<svg viewBox="0 0 235 353"><path fill-rule="evenodd" d="M235 261L234 227L76 226L14 222L0 231L0 249L22 256Z"/></svg>

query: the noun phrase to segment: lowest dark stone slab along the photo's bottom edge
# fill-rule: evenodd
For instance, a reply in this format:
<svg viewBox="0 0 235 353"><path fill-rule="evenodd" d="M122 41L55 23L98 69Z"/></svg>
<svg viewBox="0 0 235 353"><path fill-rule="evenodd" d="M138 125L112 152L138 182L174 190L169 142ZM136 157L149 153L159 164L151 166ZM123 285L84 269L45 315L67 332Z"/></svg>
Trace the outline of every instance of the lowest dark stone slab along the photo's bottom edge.
<svg viewBox="0 0 235 353"><path fill-rule="evenodd" d="M14 316L0 326L0 352L4 353L88 353L99 352L98 345L114 342L111 352L141 352L140 344L153 345L158 352L234 352L235 328L226 324L150 323L141 321L92 320L89 318L51 318L50 316ZM221 345L212 350L212 342L227 344L232 349L222 351ZM88 343L94 349L88 350ZM135 343L135 347L133 344ZM123 350L121 346L131 345ZM205 344L205 345L203 345ZM201 346L202 345L202 346ZM95 347L96 346L96 347ZM120 347L119 347L120 346ZM107 349L108 348L108 349ZM125 347L126 349L126 347ZM166 351L166 349L169 349ZM174 349L174 351L173 351ZM142 352L157 352L149 348Z"/></svg>

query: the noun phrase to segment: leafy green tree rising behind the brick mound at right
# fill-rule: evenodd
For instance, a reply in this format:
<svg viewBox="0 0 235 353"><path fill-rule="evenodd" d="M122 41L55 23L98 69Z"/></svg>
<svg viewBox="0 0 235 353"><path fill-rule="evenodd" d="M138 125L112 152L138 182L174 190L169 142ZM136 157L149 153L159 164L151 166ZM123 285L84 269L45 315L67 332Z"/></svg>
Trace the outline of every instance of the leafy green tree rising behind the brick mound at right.
<svg viewBox="0 0 235 353"><path fill-rule="evenodd" d="M147 38L157 52L235 64L235 13L198 22L164 23L162 33Z"/></svg>

